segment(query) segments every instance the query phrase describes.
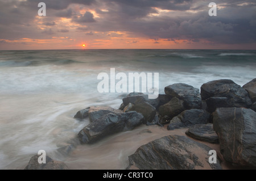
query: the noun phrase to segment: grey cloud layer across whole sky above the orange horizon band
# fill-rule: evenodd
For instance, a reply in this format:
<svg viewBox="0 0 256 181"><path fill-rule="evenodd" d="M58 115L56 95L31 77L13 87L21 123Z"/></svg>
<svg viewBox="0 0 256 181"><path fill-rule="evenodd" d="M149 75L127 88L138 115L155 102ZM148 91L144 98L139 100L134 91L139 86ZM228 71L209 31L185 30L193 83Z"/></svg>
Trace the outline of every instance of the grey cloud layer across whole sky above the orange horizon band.
<svg viewBox="0 0 256 181"><path fill-rule="evenodd" d="M41 23L54 26L56 32L51 28L42 31L36 27L34 20L38 15L39 2L46 3L47 8L47 16ZM62 17L71 18L72 22L80 24L81 27L75 27L78 34L124 31L132 37L146 37L155 41L186 39L198 42L204 39L212 43L225 44L256 42L255 0L216 0L214 2L220 7L217 16L208 15L209 2L212 1L0 0L0 39L14 40L39 36L43 39L44 36L57 34L57 30L61 33L69 29L69 24L67 27L57 27L55 24ZM77 9L69 6L74 3L81 9L87 8L85 14L81 15ZM100 17L95 17L90 10L95 11Z"/></svg>

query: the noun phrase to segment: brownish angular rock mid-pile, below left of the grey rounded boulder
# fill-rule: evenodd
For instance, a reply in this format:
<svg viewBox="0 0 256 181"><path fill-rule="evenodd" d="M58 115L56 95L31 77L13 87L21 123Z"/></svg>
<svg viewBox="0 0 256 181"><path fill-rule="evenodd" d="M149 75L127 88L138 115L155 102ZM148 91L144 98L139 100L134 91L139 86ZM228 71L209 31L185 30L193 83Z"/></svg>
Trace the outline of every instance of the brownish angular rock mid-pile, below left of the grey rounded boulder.
<svg viewBox="0 0 256 181"><path fill-rule="evenodd" d="M172 98L170 102L160 106L158 110L162 117L168 116L168 118L166 117L167 120L171 120L174 116L179 115L179 113L185 110L184 101L176 97Z"/></svg>

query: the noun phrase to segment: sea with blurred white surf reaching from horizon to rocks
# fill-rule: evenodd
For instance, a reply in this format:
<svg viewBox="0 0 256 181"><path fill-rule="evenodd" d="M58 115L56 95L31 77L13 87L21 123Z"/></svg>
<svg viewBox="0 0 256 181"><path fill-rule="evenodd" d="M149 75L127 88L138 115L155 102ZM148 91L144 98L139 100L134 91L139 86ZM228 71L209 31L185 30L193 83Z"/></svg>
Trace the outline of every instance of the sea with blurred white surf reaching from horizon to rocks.
<svg viewBox="0 0 256 181"><path fill-rule="evenodd" d="M71 169L125 169L127 157L163 128L154 126L158 131L148 136L142 125L78 145L69 155L59 151L89 124L73 119L77 111L122 103L126 92L97 90L98 74L110 74L111 68L127 75L159 73L160 94L173 83L200 89L209 81L232 79L243 86L256 78L256 50L1 50L0 169L24 169L39 150Z"/></svg>

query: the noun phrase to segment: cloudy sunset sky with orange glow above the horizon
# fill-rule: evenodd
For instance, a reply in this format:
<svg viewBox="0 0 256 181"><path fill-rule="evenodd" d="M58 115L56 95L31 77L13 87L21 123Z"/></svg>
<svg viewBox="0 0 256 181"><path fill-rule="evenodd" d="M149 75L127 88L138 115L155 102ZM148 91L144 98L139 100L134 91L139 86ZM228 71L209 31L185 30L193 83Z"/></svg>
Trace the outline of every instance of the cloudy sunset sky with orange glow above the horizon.
<svg viewBox="0 0 256 181"><path fill-rule="evenodd" d="M256 49L256 1L0 0L0 32L0 50Z"/></svg>

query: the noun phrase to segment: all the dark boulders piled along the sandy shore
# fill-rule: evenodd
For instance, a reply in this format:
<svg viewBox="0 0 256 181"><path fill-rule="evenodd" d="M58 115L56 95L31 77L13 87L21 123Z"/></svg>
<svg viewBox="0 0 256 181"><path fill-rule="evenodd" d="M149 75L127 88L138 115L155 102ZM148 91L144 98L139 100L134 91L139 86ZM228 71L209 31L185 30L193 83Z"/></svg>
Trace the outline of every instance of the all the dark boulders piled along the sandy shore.
<svg viewBox="0 0 256 181"><path fill-rule="evenodd" d="M129 156L127 169L222 169L222 161L256 168L256 79L243 87L227 79L211 81L204 83L201 91L176 83L165 87L164 92L157 99L130 93L122 99L118 110L80 110L74 118L90 120L77 135L80 143L94 144L141 124L166 125L170 131L187 128L187 136L164 136L140 146ZM220 150L216 150L221 153L217 163L209 163L212 149L202 142L220 145ZM42 167L34 156L26 169L68 169L63 162L48 160Z"/></svg>

